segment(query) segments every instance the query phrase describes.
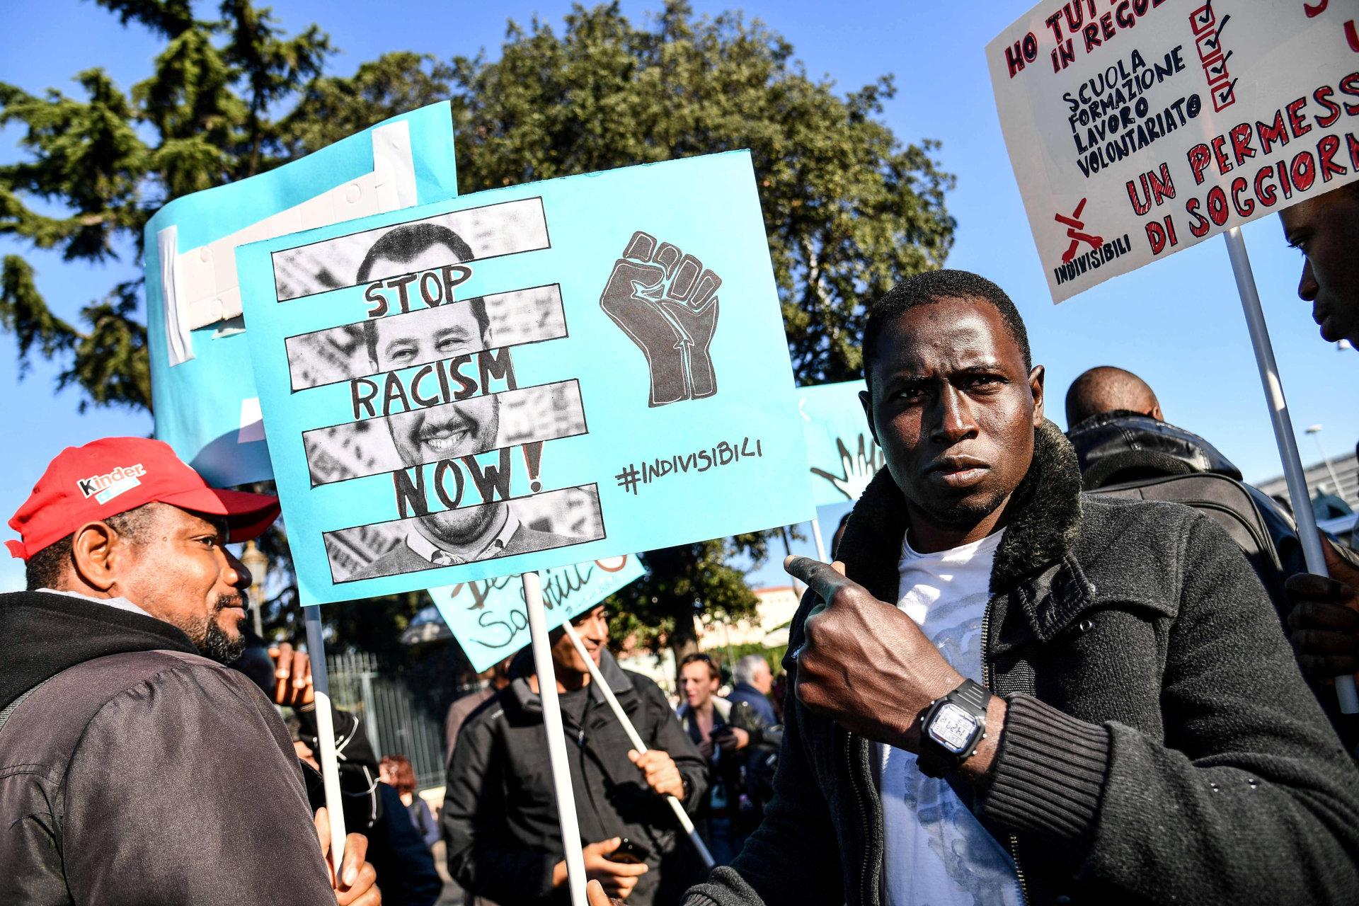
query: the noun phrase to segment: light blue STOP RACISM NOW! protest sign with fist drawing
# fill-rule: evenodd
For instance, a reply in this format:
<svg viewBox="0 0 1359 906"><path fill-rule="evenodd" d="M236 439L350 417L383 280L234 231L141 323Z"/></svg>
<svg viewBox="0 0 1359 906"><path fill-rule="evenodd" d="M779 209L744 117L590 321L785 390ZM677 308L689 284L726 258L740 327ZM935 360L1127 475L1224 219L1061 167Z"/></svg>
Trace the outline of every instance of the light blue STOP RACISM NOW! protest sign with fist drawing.
<svg viewBox="0 0 1359 906"><path fill-rule="evenodd" d="M747 152L463 196L236 262L303 603L813 512Z"/></svg>

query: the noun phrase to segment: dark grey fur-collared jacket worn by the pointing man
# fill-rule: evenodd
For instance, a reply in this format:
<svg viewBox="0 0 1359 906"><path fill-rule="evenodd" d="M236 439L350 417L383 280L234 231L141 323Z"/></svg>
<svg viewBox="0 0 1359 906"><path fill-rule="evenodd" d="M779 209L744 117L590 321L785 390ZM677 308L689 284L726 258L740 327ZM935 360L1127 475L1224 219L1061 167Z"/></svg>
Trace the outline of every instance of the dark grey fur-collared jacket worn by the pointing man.
<svg viewBox="0 0 1359 906"><path fill-rule="evenodd" d="M983 679L1008 712L985 795L954 788L1014 854L1025 902L1359 902L1359 773L1226 532L1178 504L1080 494L1052 422L1011 507L983 623ZM883 469L837 554L885 602L905 528ZM686 903L878 906L871 746L810 713L784 667L773 801Z"/></svg>

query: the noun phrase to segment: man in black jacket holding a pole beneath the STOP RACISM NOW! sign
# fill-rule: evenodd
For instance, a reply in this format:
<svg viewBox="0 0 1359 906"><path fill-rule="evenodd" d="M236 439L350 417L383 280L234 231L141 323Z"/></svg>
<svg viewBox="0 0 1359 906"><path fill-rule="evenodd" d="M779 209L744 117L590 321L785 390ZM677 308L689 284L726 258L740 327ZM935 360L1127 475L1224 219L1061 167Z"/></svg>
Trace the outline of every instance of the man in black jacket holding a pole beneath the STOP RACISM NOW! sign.
<svg viewBox="0 0 1359 906"><path fill-rule="evenodd" d="M573 743L571 785L586 873L632 906L675 903L703 876L703 863L663 796L675 796L692 814L708 791L703 759L660 689L621 670L605 648L603 607L572 623L648 746L641 755L629 751L584 662L556 630L552 657L563 725ZM561 827L530 652L515 659L510 676L458 733L442 812L448 873L469 894L497 903L565 903ZM610 858L624 838L641 864Z"/></svg>

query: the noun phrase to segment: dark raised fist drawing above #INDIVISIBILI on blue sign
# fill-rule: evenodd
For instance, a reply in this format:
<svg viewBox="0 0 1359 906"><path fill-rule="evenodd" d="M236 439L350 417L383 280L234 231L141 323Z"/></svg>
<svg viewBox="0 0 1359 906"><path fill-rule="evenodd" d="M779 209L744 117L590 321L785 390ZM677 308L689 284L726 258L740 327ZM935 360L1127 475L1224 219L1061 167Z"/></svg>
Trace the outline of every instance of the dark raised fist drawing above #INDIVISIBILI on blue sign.
<svg viewBox="0 0 1359 906"><path fill-rule="evenodd" d="M651 371L650 406L718 393L712 334L722 277L640 230L613 265L599 307L637 344Z"/></svg>

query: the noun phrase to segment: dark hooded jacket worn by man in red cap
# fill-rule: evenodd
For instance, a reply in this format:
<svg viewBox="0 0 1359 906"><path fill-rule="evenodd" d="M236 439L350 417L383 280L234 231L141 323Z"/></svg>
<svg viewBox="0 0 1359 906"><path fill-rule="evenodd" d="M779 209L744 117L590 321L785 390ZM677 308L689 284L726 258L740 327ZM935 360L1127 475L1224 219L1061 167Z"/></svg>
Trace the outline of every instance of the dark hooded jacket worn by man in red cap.
<svg viewBox="0 0 1359 906"><path fill-rule="evenodd" d="M334 905L288 732L170 623L0 595L0 903Z"/></svg>

